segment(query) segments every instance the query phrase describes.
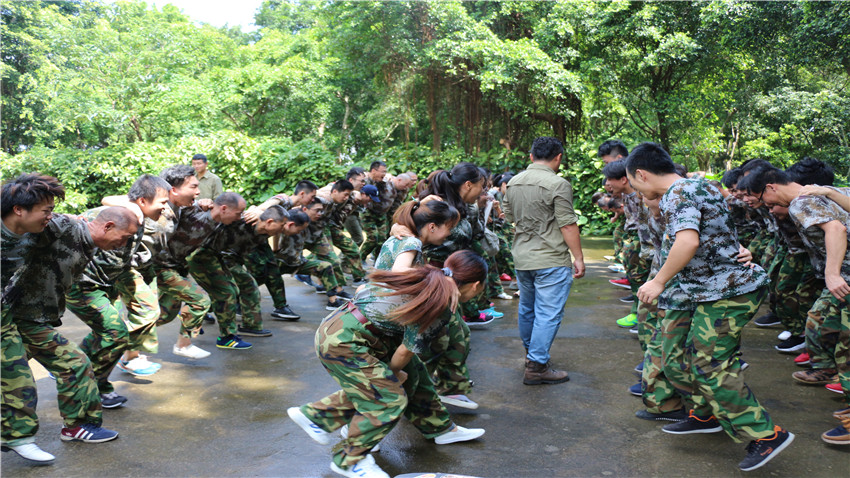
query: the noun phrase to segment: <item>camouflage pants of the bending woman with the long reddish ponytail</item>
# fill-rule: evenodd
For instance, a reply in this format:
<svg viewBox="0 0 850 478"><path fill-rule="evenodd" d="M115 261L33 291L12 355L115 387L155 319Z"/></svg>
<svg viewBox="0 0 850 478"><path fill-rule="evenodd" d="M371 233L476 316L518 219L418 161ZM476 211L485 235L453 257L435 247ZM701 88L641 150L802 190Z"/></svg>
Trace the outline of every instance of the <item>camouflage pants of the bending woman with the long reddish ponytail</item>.
<svg viewBox="0 0 850 478"><path fill-rule="evenodd" d="M405 416L427 438L454 424L440 403L422 361L413 357L400 383L389 368L398 343L372 334L350 313L338 313L316 331L316 352L342 390L302 405L325 431L348 425L348 438L334 447L333 462L349 467L363 459Z"/></svg>

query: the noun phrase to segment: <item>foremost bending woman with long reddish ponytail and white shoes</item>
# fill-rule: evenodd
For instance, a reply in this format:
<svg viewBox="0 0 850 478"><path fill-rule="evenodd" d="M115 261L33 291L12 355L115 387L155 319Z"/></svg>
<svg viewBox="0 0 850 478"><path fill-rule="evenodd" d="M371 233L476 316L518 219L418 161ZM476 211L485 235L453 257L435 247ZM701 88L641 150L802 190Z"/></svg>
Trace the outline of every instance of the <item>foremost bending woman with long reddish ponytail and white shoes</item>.
<svg viewBox="0 0 850 478"><path fill-rule="evenodd" d="M287 414L322 444L348 426L331 470L389 478L369 451L402 416L438 445L484 434L452 422L416 354L445 327L458 301L481 290L486 276L487 263L471 251L452 254L443 268L376 270L348 305L322 322L316 352L342 390Z"/></svg>

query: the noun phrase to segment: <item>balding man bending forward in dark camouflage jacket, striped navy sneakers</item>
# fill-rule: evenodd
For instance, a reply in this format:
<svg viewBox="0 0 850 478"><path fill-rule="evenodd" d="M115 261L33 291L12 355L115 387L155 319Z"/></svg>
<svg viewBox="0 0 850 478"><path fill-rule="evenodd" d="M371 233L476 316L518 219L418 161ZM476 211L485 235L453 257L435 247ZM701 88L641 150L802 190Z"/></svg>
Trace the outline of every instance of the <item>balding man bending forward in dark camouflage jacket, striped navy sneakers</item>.
<svg viewBox="0 0 850 478"><path fill-rule="evenodd" d="M96 248L121 248L138 227L135 214L120 207L104 209L92 222L55 215L43 232L19 237L4 251L9 261L4 265L26 268L16 283L4 287L12 290L8 314L27 355L56 377L63 440L102 442L118 436L100 427L101 397L88 358L54 327L62 324L66 291Z"/></svg>

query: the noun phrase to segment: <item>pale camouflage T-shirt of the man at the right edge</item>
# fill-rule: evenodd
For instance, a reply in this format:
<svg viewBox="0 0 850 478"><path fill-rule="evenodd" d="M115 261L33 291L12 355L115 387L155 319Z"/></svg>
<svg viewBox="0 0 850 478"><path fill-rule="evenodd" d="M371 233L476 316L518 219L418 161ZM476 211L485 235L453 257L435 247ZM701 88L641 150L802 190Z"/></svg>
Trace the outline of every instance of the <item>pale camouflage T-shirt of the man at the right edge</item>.
<svg viewBox="0 0 850 478"><path fill-rule="evenodd" d="M831 189L850 196L850 188ZM799 196L794 198L788 206L788 215L800 231L800 237L809 252L809 260L812 261L815 274L822 279L826 268L826 235L819 226L830 221L838 221L850 231L850 212L824 196ZM850 282L850 247L844 253L841 277Z"/></svg>

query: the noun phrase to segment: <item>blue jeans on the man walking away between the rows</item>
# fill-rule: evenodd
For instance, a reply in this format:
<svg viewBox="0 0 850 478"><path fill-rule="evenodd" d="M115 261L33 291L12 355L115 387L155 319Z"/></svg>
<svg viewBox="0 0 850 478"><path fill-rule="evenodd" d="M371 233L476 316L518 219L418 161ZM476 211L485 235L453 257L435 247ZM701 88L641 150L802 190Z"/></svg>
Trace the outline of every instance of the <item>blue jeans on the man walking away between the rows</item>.
<svg viewBox="0 0 850 478"><path fill-rule="evenodd" d="M528 360L549 362L549 348L558 334L564 305L573 284L571 267L516 271L519 284L519 336Z"/></svg>

